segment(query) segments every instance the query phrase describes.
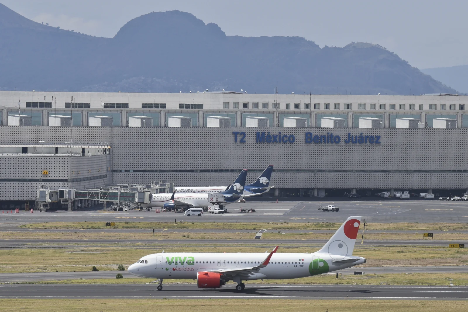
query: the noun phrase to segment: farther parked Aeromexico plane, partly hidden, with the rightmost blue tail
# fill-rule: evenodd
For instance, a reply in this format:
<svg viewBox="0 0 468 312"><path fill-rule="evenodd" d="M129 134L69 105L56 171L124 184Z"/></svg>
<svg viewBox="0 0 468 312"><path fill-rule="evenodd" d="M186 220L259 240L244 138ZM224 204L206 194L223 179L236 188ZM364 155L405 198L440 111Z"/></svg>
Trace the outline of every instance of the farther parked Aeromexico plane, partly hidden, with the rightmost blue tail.
<svg viewBox="0 0 468 312"><path fill-rule="evenodd" d="M270 191L271 188L275 187L274 185L269 186L272 171L273 165L269 165L265 170L263 170L260 177L258 177L254 183L245 185L244 198L266 193L267 191ZM213 194L225 191L228 187L229 186L176 187L176 192Z"/></svg>

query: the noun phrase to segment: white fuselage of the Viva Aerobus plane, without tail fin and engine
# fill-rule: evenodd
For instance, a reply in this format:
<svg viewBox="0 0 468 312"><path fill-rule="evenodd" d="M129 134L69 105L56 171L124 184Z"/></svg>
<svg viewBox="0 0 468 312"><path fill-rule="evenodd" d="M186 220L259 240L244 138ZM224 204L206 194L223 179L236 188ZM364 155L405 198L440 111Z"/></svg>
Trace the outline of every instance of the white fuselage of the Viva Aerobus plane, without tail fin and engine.
<svg viewBox="0 0 468 312"><path fill-rule="evenodd" d="M218 269L242 269L261 264L267 253L160 253L146 255L135 263L129 272L151 278L197 278L197 272ZM309 277L364 263L360 257L355 262L333 262L337 256L323 254L275 253L267 266L258 269L244 280L287 279Z"/></svg>

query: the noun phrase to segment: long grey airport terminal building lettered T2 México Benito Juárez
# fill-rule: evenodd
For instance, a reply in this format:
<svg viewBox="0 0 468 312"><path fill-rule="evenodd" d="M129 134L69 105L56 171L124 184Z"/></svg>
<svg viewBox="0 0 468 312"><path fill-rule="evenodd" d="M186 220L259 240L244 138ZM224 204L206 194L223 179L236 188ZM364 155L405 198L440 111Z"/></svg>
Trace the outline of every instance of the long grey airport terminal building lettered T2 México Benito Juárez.
<svg viewBox="0 0 468 312"><path fill-rule="evenodd" d="M468 188L467 96L33 91L0 106L0 200L57 179L208 186L249 169L249 183L269 164L270 196Z"/></svg>

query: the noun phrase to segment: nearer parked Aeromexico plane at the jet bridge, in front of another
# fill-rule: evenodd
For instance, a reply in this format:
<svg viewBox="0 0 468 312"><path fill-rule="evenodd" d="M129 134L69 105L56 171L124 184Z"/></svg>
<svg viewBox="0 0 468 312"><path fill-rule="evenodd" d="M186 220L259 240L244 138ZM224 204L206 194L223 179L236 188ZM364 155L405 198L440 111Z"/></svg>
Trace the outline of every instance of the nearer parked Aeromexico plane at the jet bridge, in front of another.
<svg viewBox="0 0 468 312"><path fill-rule="evenodd" d="M243 190L245 185L245 178L247 177L247 169L241 171L239 176L235 179L234 183L223 190L217 197L224 197L225 202L223 205L234 203L238 199L243 198ZM153 194L150 199L149 207L166 208L174 210L179 207L183 208L198 208L207 207L213 202L214 196L207 193L161 193ZM211 199L211 200L210 200Z"/></svg>

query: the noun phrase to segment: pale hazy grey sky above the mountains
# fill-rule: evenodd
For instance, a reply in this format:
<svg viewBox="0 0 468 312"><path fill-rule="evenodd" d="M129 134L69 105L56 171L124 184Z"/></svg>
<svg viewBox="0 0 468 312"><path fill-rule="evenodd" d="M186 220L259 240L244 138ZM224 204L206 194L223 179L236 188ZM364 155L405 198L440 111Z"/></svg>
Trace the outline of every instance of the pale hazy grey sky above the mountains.
<svg viewBox="0 0 468 312"><path fill-rule="evenodd" d="M461 0L0 2L34 21L96 36L112 37L139 15L177 9L218 24L227 35L301 36L320 47L379 43L421 69L468 64L468 1Z"/></svg>

